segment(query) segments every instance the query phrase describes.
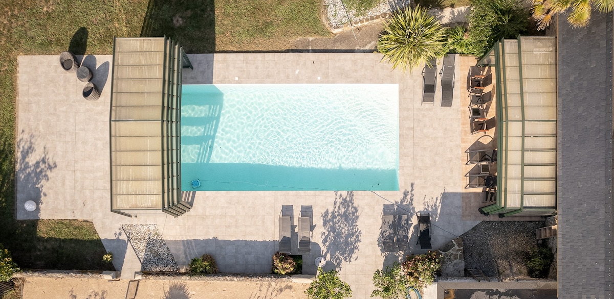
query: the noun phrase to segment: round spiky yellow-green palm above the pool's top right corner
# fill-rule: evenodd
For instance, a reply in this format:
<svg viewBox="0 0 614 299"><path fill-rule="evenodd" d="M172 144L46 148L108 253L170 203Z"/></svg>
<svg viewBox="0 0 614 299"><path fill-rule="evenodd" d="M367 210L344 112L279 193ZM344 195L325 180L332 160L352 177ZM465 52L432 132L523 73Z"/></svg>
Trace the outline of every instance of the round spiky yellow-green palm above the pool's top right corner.
<svg viewBox="0 0 614 299"><path fill-rule="evenodd" d="M446 53L446 29L429 15L426 8L416 6L392 15L379 34L378 52L403 72L431 58Z"/></svg>

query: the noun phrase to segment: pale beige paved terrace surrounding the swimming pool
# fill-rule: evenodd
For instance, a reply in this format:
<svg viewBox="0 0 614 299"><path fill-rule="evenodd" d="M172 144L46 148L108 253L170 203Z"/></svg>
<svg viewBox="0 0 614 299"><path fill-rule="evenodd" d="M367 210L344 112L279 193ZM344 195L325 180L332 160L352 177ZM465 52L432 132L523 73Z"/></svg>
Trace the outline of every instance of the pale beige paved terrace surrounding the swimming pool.
<svg viewBox="0 0 614 299"><path fill-rule="evenodd" d="M462 208L463 200L481 198L480 189L464 189L465 150L473 143L467 138L480 137L470 135L464 91L468 67L475 59L457 58L454 104L441 108L439 88L435 105L421 105L421 68L405 74L391 70L380 62L381 55L373 53L190 55L195 70L184 71L184 84L396 83L400 191L195 192L189 194L194 208L179 218L161 212L138 218L111 213L111 59L110 55L85 57L84 65L95 69L94 82L103 88L100 99L88 102L81 96L84 83L61 69L58 56L19 58L16 210L19 219L91 219L107 251L114 252L122 278L131 278L141 267L126 243L122 224L157 224L182 268L193 257L209 253L220 271L268 273L271 255L278 248L282 205L293 205L294 225L301 205L311 205L313 255L306 257L305 265L324 255L329 261L326 267L341 270L356 298L368 298L373 272L403 256L403 252L383 252L378 242L383 205L404 204L412 213L430 211L433 248L481 220L498 219L479 214L479 204L471 210ZM39 209L25 211L26 200L35 200ZM425 252L414 245L417 219L411 220L413 248L405 253Z"/></svg>

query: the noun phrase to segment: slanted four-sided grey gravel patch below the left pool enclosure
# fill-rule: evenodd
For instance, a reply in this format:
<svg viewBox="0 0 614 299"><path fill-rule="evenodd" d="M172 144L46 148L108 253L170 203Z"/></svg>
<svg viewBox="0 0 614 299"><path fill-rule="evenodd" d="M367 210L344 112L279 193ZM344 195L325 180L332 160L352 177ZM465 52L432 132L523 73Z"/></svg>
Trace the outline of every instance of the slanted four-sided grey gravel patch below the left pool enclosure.
<svg viewBox="0 0 614 299"><path fill-rule="evenodd" d="M179 271L171 250L155 224L123 224L122 229L141 261L142 271Z"/></svg>

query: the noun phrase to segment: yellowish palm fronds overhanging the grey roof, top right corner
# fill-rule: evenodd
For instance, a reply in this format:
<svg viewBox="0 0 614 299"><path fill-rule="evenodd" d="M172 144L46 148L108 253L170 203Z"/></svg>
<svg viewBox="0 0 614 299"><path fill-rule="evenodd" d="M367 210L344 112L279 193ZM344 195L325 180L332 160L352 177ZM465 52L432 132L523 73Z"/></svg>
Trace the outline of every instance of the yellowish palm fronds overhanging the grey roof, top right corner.
<svg viewBox="0 0 614 299"><path fill-rule="evenodd" d="M612 12L614 0L532 0L532 13L537 20L538 29L548 27L557 13L571 8L567 21L573 27L586 27L591 21L591 10Z"/></svg>

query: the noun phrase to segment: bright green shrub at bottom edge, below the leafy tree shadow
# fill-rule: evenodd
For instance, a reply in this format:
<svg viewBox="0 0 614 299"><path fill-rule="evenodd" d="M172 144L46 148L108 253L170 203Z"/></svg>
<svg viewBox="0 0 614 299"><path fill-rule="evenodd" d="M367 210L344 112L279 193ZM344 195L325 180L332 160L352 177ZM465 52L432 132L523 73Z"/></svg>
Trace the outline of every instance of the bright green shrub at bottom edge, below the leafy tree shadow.
<svg viewBox="0 0 614 299"><path fill-rule="evenodd" d="M343 299L352 297L349 284L339 278L337 271L326 271L317 268L316 280L305 290L309 299Z"/></svg>

